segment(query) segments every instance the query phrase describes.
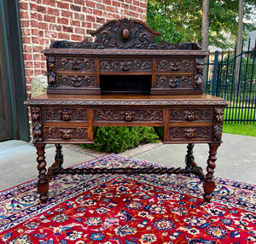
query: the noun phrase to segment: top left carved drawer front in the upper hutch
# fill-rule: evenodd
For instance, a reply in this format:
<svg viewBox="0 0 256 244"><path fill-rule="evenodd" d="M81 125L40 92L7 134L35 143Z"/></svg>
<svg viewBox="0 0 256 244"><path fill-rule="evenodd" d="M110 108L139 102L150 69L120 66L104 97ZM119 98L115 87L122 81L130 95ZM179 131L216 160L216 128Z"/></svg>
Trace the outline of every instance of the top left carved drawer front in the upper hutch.
<svg viewBox="0 0 256 244"><path fill-rule="evenodd" d="M57 70L95 71L95 60L90 58L56 58Z"/></svg>

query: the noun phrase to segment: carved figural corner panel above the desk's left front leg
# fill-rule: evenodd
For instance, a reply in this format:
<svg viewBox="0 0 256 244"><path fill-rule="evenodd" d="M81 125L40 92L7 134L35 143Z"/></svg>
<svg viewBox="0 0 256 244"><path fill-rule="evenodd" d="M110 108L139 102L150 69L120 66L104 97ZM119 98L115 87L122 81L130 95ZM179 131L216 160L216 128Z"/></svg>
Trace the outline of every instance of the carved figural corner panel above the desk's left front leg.
<svg viewBox="0 0 256 244"><path fill-rule="evenodd" d="M32 107L31 114L33 142L43 142L43 124L40 107Z"/></svg>

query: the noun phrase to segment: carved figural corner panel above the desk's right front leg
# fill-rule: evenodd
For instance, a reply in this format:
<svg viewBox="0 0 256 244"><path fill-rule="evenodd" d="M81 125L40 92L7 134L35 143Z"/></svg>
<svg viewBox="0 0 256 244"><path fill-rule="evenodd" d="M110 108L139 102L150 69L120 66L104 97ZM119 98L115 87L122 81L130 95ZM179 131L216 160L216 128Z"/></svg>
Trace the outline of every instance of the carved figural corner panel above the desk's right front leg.
<svg viewBox="0 0 256 244"><path fill-rule="evenodd" d="M214 107L213 125L212 125L212 141L220 142L222 137L224 121L224 107Z"/></svg>

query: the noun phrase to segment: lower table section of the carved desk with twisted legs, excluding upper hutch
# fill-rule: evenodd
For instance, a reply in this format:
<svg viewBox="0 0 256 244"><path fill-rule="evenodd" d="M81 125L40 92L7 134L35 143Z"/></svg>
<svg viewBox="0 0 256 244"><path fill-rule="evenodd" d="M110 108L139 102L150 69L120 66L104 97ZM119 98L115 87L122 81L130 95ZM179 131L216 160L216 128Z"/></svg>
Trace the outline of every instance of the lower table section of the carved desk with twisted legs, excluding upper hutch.
<svg viewBox="0 0 256 244"><path fill-rule="evenodd" d="M217 148L221 143L224 99L208 96L44 95L26 102L32 107L34 144L38 154L38 193L48 199L51 177L58 173L187 173L204 183L204 199L211 200ZM96 126L156 126L164 143L188 143L186 166L174 168L67 169L62 168L61 143L93 142ZM44 147L55 143L55 163L46 171ZM194 143L208 143L207 175L195 164Z"/></svg>

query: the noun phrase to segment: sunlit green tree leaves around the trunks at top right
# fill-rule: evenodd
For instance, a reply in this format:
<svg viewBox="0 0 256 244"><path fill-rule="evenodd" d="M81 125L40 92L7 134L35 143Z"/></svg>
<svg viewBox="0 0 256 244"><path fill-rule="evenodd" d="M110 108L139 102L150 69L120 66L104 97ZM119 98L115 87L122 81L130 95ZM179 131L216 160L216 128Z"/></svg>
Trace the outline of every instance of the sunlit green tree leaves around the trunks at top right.
<svg viewBox="0 0 256 244"><path fill-rule="evenodd" d="M151 15L164 16L166 25L171 25L171 32L180 33L186 41L201 44L201 19L203 0L150 0L148 5L158 6L160 10L148 8L148 18ZM209 44L219 48L228 48L233 45L238 30L239 0L210 1L209 9ZM255 9L256 0L244 0L244 18L249 20L250 14ZM152 14L154 13L154 14ZM156 14L155 14L156 13ZM154 29L154 25L152 25ZM243 35L256 29L256 26L244 22ZM154 29L155 30L155 29ZM226 34L230 34L233 43L227 42ZM168 34L166 34L168 36ZM172 35L172 34L171 34Z"/></svg>

